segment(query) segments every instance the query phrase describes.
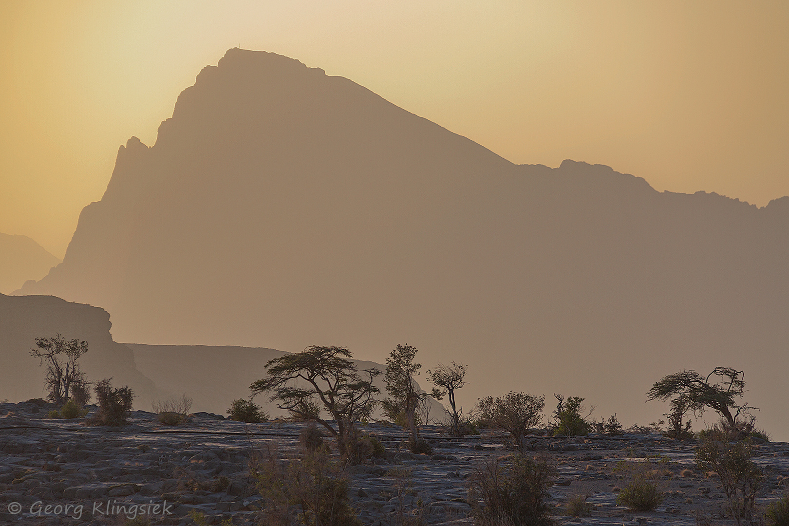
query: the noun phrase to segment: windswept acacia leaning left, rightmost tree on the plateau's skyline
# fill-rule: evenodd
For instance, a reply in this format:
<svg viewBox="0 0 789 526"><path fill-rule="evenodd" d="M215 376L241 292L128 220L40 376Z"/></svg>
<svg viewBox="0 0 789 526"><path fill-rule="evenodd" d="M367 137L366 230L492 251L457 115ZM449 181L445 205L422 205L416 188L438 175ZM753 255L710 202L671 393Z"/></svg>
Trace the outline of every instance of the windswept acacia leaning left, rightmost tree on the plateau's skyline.
<svg viewBox="0 0 789 526"><path fill-rule="evenodd" d="M719 381L710 381L716 376ZM647 393L647 401L673 398L672 405L704 412L710 408L722 416L731 430L737 429L737 418L747 414L750 405L738 405L737 399L745 393L744 374L731 367L715 367L706 377L696 371L675 372L655 382ZM733 411L733 413L732 413Z"/></svg>

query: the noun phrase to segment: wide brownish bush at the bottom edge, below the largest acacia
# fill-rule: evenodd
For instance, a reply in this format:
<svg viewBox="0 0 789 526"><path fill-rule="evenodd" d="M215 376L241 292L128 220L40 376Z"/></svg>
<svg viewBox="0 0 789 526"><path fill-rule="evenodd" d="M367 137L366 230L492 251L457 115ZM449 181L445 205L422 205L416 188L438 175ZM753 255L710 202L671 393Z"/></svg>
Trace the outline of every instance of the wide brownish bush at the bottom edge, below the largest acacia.
<svg viewBox="0 0 789 526"><path fill-rule="evenodd" d="M323 452L278 461L272 450L250 457L250 476L263 497L268 526L361 526L348 498L348 479Z"/></svg>

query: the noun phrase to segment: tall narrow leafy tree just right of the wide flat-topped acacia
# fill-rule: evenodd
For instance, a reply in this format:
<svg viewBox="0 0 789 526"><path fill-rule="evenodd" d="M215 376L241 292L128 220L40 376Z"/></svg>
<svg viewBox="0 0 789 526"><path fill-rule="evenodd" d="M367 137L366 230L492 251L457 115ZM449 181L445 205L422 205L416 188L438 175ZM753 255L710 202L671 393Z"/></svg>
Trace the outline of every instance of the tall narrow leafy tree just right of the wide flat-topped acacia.
<svg viewBox="0 0 789 526"><path fill-rule="evenodd" d="M383 379L387 382L387 392L391 398L383 401L390 414L402 411L406 417L406 427L411 433L412 446L417 443L418 431L416 413L419 405L428 394L420 392L414 375L419 374L422 364L414 363L419 349L413 345L399 345L389 353L387 371Z"/></svg>

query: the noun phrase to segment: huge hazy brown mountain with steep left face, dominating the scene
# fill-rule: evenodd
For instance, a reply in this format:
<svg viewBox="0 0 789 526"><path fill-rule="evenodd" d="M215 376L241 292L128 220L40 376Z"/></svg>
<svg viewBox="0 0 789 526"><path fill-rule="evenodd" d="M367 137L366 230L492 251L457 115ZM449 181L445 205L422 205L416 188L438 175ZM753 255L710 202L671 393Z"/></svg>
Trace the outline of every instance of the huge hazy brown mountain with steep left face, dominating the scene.
<svg viewBox="0 0 789 526"><path fill-rule="evenodd" d="M63 263L22 293L100 305L121 341L375 360L408 342L425 368L469 364L466 407L562 393L644 423L666 412L643 403L662 375L739 367L789 438L787 234L787 197L516 166L350 80L233 49L154 146L120 148Z"/></svg>

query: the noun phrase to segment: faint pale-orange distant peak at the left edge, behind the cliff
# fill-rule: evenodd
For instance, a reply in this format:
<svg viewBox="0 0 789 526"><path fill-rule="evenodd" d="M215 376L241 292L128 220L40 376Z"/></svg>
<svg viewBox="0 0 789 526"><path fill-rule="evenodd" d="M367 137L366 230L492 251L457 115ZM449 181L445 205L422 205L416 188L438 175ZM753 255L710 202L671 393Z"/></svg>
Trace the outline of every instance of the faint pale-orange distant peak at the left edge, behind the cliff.
<svg viewBox="0 0 789 526"><path fill-rule="evenodd" d="M58 263L60 259L31 238L0 233L0 294L43 278Z"/></svg>

